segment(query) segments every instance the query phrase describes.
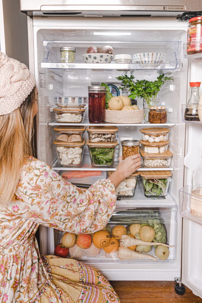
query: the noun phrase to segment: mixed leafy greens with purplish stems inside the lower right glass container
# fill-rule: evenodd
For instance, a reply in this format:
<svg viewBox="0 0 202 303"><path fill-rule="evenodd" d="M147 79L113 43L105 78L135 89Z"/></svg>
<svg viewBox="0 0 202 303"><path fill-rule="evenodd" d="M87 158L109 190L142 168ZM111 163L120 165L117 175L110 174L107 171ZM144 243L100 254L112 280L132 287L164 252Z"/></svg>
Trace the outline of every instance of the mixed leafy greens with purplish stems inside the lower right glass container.
<svg viewBox="0 0 202 303"><path fill-rule="evenodd" d="M143 179L145 194L164 196L166 193L167 179Z"/></svg>

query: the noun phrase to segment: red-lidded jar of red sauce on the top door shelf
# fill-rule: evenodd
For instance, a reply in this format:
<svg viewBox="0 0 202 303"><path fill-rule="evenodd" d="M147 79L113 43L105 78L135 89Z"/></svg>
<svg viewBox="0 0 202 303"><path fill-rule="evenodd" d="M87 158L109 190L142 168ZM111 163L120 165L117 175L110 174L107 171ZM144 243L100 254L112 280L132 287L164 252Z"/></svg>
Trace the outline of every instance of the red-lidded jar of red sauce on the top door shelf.
<svg viewBox="0 0 202 303"><path fill-rule="evenodd" d="M189 19L187 32L187 54L193 55L202 52L202 17Z"/></svg>

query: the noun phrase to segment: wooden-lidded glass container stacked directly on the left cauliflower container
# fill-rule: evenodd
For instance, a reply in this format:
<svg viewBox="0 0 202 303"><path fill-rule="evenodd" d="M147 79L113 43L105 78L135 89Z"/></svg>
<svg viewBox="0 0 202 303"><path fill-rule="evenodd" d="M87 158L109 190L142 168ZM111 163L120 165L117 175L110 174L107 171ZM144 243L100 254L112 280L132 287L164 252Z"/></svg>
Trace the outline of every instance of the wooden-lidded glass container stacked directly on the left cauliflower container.
<svg viewBox="0 0 202 303"><path fill-rule="evenodd" d="M56 126L55 139L63 142L82 142L86 126Z"/></svg>

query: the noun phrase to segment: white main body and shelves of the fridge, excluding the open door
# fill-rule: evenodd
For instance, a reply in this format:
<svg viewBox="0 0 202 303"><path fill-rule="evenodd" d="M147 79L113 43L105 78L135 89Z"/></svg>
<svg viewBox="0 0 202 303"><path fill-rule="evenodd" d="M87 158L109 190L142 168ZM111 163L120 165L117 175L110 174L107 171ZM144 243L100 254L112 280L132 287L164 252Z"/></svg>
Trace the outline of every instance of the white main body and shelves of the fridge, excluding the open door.
<svg viewBox="0 0 202 303"><path fill-rule="evenodd" d="M184 143L185 143L185 123L181 120L181 105L185 103L187 92L187 59L183 56L182 43L187 39L187 24L177 23L175 18L165 20L158 18L130 19L130 18L33 18L34 37L34 61L35 77L38 86L39 112L37 117L37 145L38 158L51 165L52 169L67 177L72 171L71 178L67 177L77 185L91 185L95 180L106 178L109 171L114 171L118 165L119 148L114 154L114 163L108 168L103 165L94 166L90 161L91 147L82 148L82 163L79 166L61 165L61 151L67 148L57 146L55 148L54 129L62 125L70 127L69 122L56 121L54 109L56 108L54 97L87 96L89 85L100 85L101 82L113 84L119 87L116 77L122 74L134 74L138 80L146 79L154 81L158 75L164 73L167 77L173 78L171 83L165 84L159 98L161 105L167 105L168 118L164 124L154 123L154 127L166 127L169 129L169 151L173 154L169 165L154 168L142 167L139 172L146 171L152 173L158 171L169 174L172 173L171 182L167 183L167 194L161 197L149 196L145 192L144 177L138 177L134 188L134 195L127 196L128 190L124 190L123 197L118 194L117 208L110 219L111 230L117 225L128 228L129 225L149 224L151 214L155 214L160 224L166 231L166 243L175 245L170 248L169 258L166 260L120 260L117 255L114 258L102 248L98 255L81 256L81 260L100 268L106 278L110 280L174 280L180 276L181 265L181 217L177 209L178 190L184 183ZM166 39L165 39L166 37ZM166 40L166 41L165 41ZM76 48L75 62L61 62L61 47ZM91 45L111 45L115 54L129 55L140 52L163 52L166 60L153 64L120 64L112 60L111 63L85 63L82 55ZM75 93L76 92L76 93ZM59 99L58 99L59 100ZM143 108L141 99L137 100L140 108ZM75 122L74 126L92 126L88 120L88 105L86 106L82 122ZM121 136L131 135L135 140L140 140L142 134L140 129L151 127L148 122L143 123L105 123L105 126L118 127L116 139L119 143ZM88 139L88 134L84 133L84 139ZM59 151L57 158L56 150ZM91 155L92 157L92 155ZM59 161L58 161L59 160ZM91 159L92 160L92 159ZM63 162L64 163L64 162ZM150 162L148 162L150 163ZM72 167L74 166L74 167ZM65 171L65 173L64 173ZM78 178L80 176L83 178ZM89 172L91 172L89 174ZM92 175L93 172L93 175ZM145 172L145 173L146 173ZM88 175L89 174L89 175ZM127 180L124 180L127 186ZM165 183L164 183L165 184ZM169 187L168 187L169 184ZM145 193L147 194L145 196ZM135 214L144 214L145 223L141 218L134 218ZM121 221L113 221L116 215L124 214L126 217ZM114 217L114 218L115 218ZM129 217L129 218L128 218ZM137 220L136 220L137 219ZM139 220L139 221L138 221ZM42 254L53 254L55 246L61 240L62 234L54 229L41 227L40 247ZM148 253L149 254L149 253ZM155 256L155 249L151 254Z"/></svg>

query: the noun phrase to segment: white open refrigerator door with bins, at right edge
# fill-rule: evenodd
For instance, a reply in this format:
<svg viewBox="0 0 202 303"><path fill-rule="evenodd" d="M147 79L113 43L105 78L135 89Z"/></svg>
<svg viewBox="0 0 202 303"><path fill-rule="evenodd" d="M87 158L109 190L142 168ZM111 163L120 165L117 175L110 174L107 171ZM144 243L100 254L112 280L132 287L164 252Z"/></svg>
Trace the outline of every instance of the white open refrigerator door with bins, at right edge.
<svg viewBox="0 0 202 303"><path fill-rule="evenodd" d="M186 45L185 45L186 47ZM202 55L189 56L188 81L201 81ZM187 85L188 86L188 85ZM187 100L190 92L187 92ZM192 191L193 170L199 168L202 154L201 122L186 123L184 187L179 191L180 214L183 216L182 238L182 283L202 298L202 197ZM200 175L198 175L198 179ZM196 180L200 184L200 180Z"/></svg>

